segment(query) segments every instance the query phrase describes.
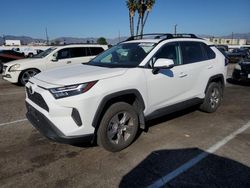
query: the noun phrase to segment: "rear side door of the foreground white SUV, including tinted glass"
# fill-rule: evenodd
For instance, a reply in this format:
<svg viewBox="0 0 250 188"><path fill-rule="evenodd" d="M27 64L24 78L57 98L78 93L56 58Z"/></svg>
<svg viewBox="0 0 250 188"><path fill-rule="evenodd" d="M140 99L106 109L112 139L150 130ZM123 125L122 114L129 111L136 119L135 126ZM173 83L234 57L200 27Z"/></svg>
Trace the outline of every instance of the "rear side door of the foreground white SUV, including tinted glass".
<svg viewBox="0 0 250 188"><path fill-rule="evenodd" d="M203 42L180 42L182 67L188 72L190 82L186 95L203 98L208 79L214 72L215 54Z"/></svg>

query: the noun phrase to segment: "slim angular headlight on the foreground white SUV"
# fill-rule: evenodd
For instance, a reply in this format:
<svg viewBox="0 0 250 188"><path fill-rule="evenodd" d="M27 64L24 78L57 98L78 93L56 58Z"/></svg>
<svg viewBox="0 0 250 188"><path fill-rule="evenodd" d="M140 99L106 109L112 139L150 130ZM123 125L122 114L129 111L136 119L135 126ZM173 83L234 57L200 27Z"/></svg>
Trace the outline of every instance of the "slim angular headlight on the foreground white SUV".
<svg viewBox="0 0 250 188"><path fill-rule="evenodd" d="M97 81L49 89L55 99L79 95L92 88Z"/></svg>

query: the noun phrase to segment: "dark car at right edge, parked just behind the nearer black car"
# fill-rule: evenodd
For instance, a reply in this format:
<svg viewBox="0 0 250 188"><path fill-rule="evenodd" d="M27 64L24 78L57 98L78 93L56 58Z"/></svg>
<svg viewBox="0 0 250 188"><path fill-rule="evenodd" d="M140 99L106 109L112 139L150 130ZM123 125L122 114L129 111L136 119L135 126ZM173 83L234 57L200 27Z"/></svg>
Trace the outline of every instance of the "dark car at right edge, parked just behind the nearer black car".
<svg viewBox="0 0 250 188"><path fill-rule="evenodd" d="M249 51L244 48L236 48L227 53L229 63L238 63L241 59L247 58L248 56Z"/></svg>

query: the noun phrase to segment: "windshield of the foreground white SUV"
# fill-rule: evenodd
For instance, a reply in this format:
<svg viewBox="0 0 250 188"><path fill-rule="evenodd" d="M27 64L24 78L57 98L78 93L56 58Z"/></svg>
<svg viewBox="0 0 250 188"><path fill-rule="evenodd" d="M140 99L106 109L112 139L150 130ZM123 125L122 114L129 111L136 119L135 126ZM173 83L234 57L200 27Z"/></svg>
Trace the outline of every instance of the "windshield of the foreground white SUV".
<svg viewBox="0 0 250 188"><path fill-rule="evenodd" d="M156 43L123 43L105 51L88 65L102 67L137 67Z"/></svg>

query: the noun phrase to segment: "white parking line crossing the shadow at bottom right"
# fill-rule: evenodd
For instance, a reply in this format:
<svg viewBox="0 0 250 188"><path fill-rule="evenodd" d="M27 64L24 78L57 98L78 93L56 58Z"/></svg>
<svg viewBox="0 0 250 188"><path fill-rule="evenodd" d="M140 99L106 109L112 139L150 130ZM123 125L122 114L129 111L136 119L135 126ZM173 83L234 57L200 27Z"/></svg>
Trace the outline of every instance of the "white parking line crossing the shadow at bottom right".
<svg viewBox="0 0 250 188"><path fill-rule="evenodd" d="M230 135L228 135L227 137L225 137L221 141L217 142L216 144L214 144L213 146L211 146L210 148L208 148L206 151L202 152L201 154L199 154L195 158L193 158L193 159L189 160L188 162L186 162L185 164L181 165L179 168L177 168L174 171L170 172L169 174L166 174L165 176L161 177L160 179L158 179L157 181L155 181L153 184L151 184L148 187L149 188L163 187L169 181L176 178L177 176L179 176L183 172L187 171L188 169L192 168L194 165L196 165L202 159L206 158L210 153L216 152L219 148L221 148L222 146L227 144L230 140L232 140L238 134L244 132L248 128L250 128L250 122L243 125L241 128L237 129L236 131L234 131L233 133L231 133Z"/></svg>

